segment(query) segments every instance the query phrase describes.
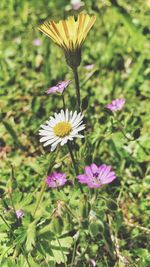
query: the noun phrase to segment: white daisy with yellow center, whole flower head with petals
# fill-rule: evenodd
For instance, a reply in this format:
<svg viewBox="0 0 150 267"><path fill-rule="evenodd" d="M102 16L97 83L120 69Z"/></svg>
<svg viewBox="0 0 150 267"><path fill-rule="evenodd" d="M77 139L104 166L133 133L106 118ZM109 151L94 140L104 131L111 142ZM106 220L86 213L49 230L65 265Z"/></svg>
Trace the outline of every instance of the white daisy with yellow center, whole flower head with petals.
<svg viewBox="0 0 150 267"><path fill-rule="evenodd" d="M50 120L46 122L46 125L41 125L39 135L42 136L40 142L44 142L43 146L51 145L51 151L54 151L57 145L61 146L66 144L69 140L72 141L75 137L83 138L84 136L79 134L80 131L85 129L83 123L83 115L77 114L72 111L61 110L60 113L55 113L54 117L50 117Z"/></svg>

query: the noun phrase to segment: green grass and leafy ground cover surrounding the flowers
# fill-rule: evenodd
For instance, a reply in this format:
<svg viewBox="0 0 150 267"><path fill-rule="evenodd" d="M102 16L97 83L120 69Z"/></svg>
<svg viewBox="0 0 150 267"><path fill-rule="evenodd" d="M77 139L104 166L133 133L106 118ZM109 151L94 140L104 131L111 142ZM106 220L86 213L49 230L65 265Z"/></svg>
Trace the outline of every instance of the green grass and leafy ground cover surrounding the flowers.
<svg viewBox="0 0 150 267"><path fill-rule="evenodd" d="M146 1L85 1L83 10L97 16L82 49L79 67L81 97L87 134L77 141L75 156L80 173L95 162L112 165L117 179L95 192L67 185L46 188L32 217L50 163L75 178L67 148L55 159L44 149L38 130L62 108L59 96L45 91L71 79L65 100L76 108L73 74L63 52L37 27L45 19L78 14L70 2L2 0L0 3L0 266L139 266L150 265L150 114L149 114L149 9ZM40 46L33 41L41 40ZM95 64L92 70L85 68ZM118 119L104 110L112 99L124 97ZM66 157L65 157L66 156ZM64 158L65 157L65 158ZM15 209L23 209L16 222ZM60 203L60 201L62 201ZM62 205L60 207L60 205ZM67 206L66 206L67 205ZM53 216L60 207L60 216ZM93 215L91 215L93 214ZM93 217L92 217L93 216ZM10 228L10 229L9 229ZM74 256L73 256L74 255ZM28 259L28 263L25 260ZM71 265L72 264L72 265Z"/></svg>

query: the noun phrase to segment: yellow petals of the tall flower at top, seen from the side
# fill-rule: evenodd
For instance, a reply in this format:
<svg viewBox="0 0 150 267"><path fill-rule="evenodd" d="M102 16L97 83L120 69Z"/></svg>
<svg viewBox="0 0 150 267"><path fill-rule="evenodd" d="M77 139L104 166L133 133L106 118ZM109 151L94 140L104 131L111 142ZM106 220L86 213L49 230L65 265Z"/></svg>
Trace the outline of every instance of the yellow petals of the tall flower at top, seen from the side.
<svg viewBox="0 0 150 267"><path fill-rule="evenodd" d="M44 22L39 30L51 38L65 53L79 50L96 20L95 16L79 14L77 20L74 16L66 20Z"/></svg>

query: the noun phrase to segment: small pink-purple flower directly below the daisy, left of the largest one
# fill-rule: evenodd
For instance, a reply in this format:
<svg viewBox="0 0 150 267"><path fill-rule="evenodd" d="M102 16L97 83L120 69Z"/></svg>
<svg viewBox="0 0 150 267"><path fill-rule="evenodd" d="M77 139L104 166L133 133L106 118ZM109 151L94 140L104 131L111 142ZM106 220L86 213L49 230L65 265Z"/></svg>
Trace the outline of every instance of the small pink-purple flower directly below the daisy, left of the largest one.
<svg viewBox="0 0 150 267"><path fill-rule="evenodd" d="M55 188L64 185L67 182L66 175L60 172L51 173L47 179L46 183L49 187Z"/></svg>

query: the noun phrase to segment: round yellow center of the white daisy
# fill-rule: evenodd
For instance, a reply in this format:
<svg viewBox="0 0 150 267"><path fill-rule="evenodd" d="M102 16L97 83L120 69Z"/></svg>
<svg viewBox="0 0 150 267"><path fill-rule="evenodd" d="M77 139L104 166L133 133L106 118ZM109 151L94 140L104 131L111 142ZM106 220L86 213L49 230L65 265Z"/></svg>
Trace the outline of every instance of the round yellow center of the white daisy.
<svg viewBox="0 0 150 267"><path fill-rule="evenodd" d="M55 125L53 130L57 136L64 137L71 132L72 127L71 127L71 124L69 122L62 121L62 122L58 122Z"/></svg>

